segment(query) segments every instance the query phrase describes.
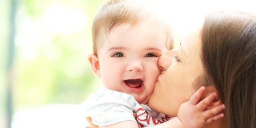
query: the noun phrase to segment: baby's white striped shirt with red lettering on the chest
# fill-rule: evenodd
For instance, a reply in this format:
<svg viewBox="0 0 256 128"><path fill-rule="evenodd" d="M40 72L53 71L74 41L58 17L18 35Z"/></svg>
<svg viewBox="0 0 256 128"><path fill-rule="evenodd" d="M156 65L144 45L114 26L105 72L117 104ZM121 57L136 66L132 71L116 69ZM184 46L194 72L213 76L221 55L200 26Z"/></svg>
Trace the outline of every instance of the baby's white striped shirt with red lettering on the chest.
<svg viewBox="0 0 256 128"><path fill-rule="evenodd" d="M136 121L132 113L137 113L139 126L152 126L168 121L171 117L157 113L148 105L139 104L132 95L99 87L82 103L85 117L91 117L93 124L106 126L121 121ZM146 110L146 111L145 111ZM157 118L157 119L156 119Z"/></svg>

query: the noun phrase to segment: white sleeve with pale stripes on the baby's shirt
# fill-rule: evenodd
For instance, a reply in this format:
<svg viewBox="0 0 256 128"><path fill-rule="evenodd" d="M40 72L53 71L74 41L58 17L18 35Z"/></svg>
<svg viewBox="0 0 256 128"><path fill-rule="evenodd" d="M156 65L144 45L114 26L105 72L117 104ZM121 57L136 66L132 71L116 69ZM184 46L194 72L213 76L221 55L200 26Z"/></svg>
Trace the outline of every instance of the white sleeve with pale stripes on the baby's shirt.
<svg viewBox="0 0 256 128"><path fill-rule="evenodd" d="M108 90L109 91L109 90ZM133 117L135 99L132 95L116 91L98 92L82 103L86 117L93 124L106 126L121 121L136 121Z"/></svg>

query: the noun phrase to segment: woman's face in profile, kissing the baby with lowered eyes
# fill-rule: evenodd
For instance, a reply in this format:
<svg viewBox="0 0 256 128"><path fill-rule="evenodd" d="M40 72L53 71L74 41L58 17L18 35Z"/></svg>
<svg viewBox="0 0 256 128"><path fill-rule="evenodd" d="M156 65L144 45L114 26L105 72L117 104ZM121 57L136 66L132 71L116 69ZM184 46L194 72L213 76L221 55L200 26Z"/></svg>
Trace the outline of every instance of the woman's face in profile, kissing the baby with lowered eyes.
<svg viewBox="0 0 256 128"><path fill-rule="evenodd" d="M162 70L157 79L149 105L166 115L176 117L179 106L194 93L193 84L203 74L200 29L195 29L181 41L179 49L170 50L159 57Z"/></svg>

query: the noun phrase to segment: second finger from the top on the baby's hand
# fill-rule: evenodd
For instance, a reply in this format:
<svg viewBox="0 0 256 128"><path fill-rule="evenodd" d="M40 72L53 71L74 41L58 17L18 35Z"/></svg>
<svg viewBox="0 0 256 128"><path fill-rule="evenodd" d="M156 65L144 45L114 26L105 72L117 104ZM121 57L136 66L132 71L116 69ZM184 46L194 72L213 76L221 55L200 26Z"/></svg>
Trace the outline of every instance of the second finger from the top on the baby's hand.
<svg viewBox="0 0 256 128"><path fill-rule="evenodd" d="M208 95L203 100L201 100L198 104L196 104L196 109L199 110L199 111L204 110L205 108L207 108L207 106L209 106L212 103L212 101L216 97L217 97L217 94L215 92Z"/></svg>

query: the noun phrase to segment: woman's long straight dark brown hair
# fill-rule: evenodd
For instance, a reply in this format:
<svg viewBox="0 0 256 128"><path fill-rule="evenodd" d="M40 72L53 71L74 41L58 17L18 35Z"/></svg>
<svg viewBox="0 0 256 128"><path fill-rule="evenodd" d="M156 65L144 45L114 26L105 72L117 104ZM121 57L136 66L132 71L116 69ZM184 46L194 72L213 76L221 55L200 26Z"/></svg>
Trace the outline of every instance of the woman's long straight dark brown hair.
<svg viewBox="0 0 256 128"><path fill-rule="evenodd" d="M202 60L209 84L225 104L230 128L256 128L256 16L218 12L202 27Z"/></svg>

